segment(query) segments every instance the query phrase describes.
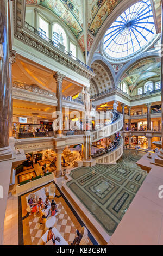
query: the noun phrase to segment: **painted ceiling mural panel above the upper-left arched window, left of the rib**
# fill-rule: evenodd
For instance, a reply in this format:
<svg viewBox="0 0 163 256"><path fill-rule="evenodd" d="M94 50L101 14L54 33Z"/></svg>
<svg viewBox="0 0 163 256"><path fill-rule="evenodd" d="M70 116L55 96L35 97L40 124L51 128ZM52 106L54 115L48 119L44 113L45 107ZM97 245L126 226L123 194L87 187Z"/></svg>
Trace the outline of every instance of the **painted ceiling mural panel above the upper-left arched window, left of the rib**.
<svg viewBox="0 0 163 256"><path fill-rule="evenodd" d="M76 38L83 32L81 0L40 0L40 5L53 11L64 21Z"/></svg>

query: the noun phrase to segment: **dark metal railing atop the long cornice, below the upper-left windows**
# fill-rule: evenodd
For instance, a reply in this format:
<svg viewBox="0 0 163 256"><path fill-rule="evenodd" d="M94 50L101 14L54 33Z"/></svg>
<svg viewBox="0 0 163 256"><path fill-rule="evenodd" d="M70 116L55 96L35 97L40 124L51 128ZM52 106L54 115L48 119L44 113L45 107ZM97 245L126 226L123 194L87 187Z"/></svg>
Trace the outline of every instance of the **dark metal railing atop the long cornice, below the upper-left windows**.
<svg viewBox="0 0 163 256"><path fill-rule="evenodd" d="M24 22L24 26L29 29L31 32L33 32L34 34L38 35L42 40L45 40L46 42L48 42L49 44L53 45L53 47L57 48L59 50L59 48L56 46L56 43L52 40L49 39L46 35L41 36L40 31L38 31L36 28L34 28L33 26L31 26L29 23ZM62 52L62 51L61 51ZM73 60L75 60L76 62L78 62L80 65L84 66L84 68L89 69L90 71L93 72L93 69L90 68L90 66L87 66L85 63L83 63L81 60L79 60L78 58L74 57L70 52L67 52L66 50L64 50L64 53L72 58Z"/></svg>

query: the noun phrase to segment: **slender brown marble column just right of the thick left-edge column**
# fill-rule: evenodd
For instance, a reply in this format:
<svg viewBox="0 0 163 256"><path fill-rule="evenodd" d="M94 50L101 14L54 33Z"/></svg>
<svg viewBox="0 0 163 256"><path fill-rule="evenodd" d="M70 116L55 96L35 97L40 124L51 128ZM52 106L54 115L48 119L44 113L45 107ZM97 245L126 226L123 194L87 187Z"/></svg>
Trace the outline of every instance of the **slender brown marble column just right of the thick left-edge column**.
<svg viewBox="0 0 163 256"><path fill-rule="evenodd" d="M16 52L9 53L9 137L13 136L13 100L12 100L12 65L15 62Z"/></svg>

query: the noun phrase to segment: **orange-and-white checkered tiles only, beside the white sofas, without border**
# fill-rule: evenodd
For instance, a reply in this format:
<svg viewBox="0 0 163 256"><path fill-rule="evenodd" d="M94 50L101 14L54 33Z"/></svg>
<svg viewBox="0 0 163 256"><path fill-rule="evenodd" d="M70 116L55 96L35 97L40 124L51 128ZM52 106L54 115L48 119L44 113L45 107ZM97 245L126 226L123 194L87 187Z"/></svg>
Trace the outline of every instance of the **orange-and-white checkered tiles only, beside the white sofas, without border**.
<svg viewBox="0 0 163 256"><path fill-rule="evenodd" d="M57 204L57 209L58 215L56 216L56 228L64 239L70 244L76 237L76 228L64 209L64 206L62 206L60 202ZM37 214L36 216L31 214L28 218L32 245L42 245L43 242L41 236L45 233L45 222L40 225L41 213Z"/></svg>

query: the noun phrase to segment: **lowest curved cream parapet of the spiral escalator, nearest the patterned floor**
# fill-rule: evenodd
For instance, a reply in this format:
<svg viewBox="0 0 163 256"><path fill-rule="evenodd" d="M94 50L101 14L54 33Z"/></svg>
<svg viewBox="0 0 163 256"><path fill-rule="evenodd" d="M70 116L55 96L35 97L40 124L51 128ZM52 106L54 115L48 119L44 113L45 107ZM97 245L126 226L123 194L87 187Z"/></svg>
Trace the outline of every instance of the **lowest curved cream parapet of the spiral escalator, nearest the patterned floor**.
<svg viewBox="0 0 163 256"><path fill-rule="evenodd" d="M96 158L97 164L115 164L123 154L123 138L121 137L118 144L112 147L112 150L108 154L104 154Z"/></svg>

